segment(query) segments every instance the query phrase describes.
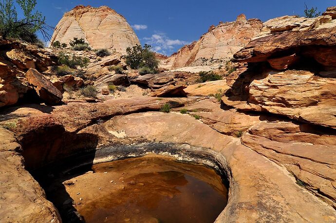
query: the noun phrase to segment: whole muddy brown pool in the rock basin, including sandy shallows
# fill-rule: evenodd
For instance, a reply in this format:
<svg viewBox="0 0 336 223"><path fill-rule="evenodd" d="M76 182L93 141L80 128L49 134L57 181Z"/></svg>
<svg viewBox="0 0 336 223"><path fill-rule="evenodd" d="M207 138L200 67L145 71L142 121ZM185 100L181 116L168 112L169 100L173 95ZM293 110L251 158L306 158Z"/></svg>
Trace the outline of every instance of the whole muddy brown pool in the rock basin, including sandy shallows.
<svg viewBox="0 0 336 223"><path fill-rule="evenodd" d="M92 170L46 188L61 215L70 197L86 223L213 223L227 204L221 177L205 166L155 155Z"/></svg>

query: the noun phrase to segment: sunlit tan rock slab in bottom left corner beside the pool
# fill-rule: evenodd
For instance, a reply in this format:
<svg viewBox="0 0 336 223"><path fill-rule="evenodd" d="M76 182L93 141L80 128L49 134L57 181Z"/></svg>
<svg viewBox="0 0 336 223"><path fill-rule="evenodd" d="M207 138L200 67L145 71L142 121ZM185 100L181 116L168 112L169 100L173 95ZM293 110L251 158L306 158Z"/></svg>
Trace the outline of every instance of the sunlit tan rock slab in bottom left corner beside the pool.
<svg viewBox="0 0 336 223"><path fill-rule="evenodd" d="M14 134L0 127L0 222L61 223L55 206L24 167Z"/></svg>

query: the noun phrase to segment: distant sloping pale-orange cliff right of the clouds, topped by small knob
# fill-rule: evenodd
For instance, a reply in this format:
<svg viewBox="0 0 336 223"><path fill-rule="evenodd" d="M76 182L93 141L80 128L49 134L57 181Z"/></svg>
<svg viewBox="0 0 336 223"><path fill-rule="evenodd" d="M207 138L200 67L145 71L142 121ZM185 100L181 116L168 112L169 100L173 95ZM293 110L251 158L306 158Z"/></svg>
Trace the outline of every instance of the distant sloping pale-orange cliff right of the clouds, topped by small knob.
<svg viewBox="0 0 336 223"><path fill-rule="evenodd" d="M162 67L167 69L186 67L204 58L229 60L249 43L251 38L258 35L261 29L261 20L246 20L244 15L238 16L234 22L212 25L198 41L182 47L177 53L162 61Z"/></svg>

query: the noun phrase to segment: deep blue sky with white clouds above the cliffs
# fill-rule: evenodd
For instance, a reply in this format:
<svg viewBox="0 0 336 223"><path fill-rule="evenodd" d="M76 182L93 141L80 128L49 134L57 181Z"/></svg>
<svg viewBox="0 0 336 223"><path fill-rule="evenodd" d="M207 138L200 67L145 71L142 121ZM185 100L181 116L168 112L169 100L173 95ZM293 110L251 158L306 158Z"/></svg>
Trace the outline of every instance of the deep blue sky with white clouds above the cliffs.
<svg viewBox="0 0 336 223"><path fill-rule="evenodd" d="M107 5L136 28L142 44L170 55L199 39L210 25L233 21L239 14L262 21L284 15L302 15L304 2L324 12L336 0L37 0L47 23L56 26L64 12L78 4Z"/></svg>

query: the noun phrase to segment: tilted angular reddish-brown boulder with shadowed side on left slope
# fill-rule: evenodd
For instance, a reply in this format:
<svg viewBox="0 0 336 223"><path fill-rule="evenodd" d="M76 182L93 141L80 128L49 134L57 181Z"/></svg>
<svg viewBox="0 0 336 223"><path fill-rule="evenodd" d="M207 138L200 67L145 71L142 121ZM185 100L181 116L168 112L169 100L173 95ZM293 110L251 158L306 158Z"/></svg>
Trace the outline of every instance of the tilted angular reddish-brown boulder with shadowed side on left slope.
<svg viewBox="0 0 336 223"><path fill-rule="evenodd" d="M48 104L59 104L62 101L63 95L53 85L53 83L45 78L37 70L31 68L25 74L28 82L32 85L38 96Z"/></svg>

